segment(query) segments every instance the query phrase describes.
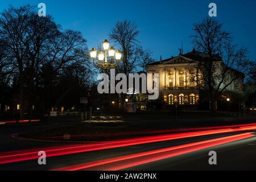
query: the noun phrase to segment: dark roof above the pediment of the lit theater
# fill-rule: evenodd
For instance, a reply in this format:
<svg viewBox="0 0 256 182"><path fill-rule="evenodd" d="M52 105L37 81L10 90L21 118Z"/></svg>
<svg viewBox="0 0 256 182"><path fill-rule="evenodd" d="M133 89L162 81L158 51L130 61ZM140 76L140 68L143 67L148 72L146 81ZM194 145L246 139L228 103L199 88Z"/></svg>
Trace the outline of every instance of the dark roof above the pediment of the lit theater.
<svg viewBox="0 0 256 182"><path fill-rule="evenodd" d="M192 52L188 52L188 53L185 53L185 54L179 55L179 56L183 56L183 57L186 57L186 58L194 60L194 61L210 61L210 56L207 53L198 52L198 51L195 51L195 49ZM176 57L179 57L179 56L176 56ZM166 60L157 61L155 63L151 63L151 64L148 64L148 65L164 64L167 61L171 61L172 59L176 59L176 57L172 56L172 57L170 57L170 58L168 58ZM218 56L218 55L214 55L213 57L214 57L213 61L222 61L221 57Z"/></svg>

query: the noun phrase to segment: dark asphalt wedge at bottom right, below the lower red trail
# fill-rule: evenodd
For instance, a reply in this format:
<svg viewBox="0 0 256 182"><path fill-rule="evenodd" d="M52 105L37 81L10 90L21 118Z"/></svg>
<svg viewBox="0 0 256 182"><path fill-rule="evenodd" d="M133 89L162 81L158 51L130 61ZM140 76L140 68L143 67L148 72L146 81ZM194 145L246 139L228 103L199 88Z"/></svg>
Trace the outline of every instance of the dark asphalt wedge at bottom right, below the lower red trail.
<svg viewBox="0 0 256 182"><path fill-rule="evenodd" d="M217 165L209 165L209 151L217 152ZM191 152L158 162L127 168L126 170L159 170L159 171L255 171L256 138L222 144L205 150Z"/></svg>

